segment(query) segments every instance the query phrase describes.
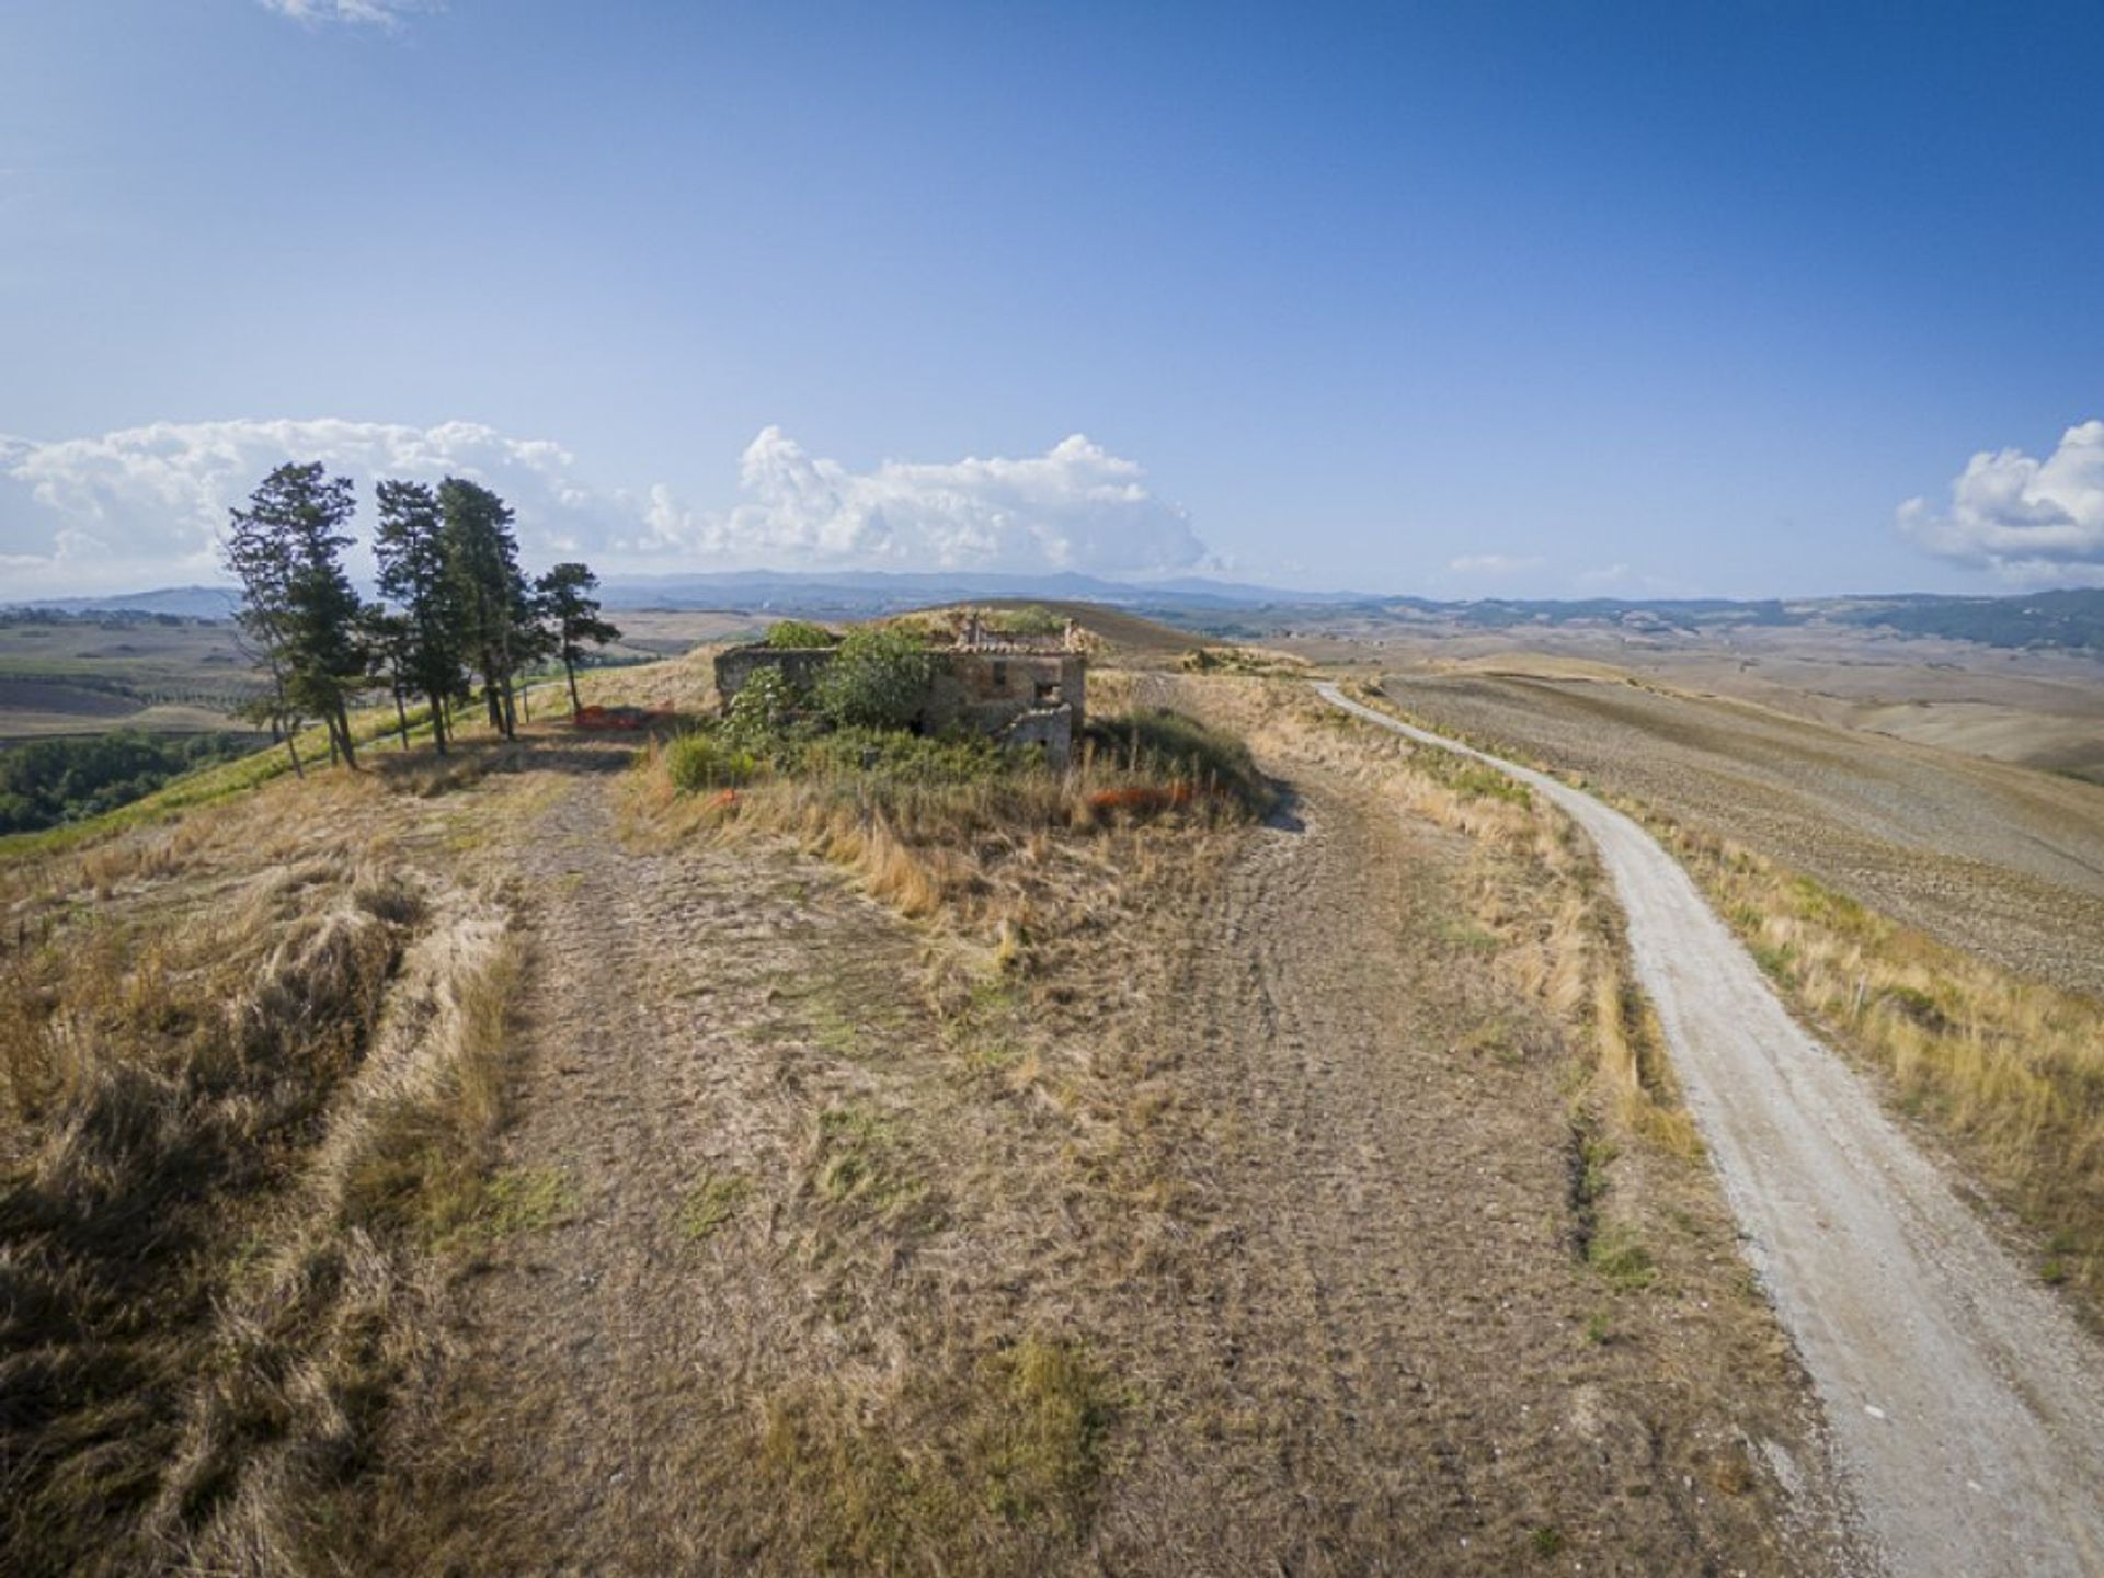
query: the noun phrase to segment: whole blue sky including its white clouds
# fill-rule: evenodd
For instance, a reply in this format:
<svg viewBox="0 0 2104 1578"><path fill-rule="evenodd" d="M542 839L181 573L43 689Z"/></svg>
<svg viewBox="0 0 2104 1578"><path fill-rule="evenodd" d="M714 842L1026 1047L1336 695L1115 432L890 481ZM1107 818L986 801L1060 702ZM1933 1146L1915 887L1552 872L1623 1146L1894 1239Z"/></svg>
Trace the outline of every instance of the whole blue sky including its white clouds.
<svg viewBox="0 0 2104 1578"><path fill-rule="evenodd" d="M629 570L2104 583L2100 80L2089 6L13 0L0 595L309 454Z"/></svg>

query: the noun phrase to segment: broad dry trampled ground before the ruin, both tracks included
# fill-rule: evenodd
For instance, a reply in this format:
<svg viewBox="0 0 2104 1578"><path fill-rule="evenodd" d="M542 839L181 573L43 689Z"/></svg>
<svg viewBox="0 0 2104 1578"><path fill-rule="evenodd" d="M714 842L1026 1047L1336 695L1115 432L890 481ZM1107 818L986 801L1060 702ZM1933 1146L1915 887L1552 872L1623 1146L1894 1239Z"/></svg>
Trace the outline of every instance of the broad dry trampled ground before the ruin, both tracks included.
<svg viewBox="0 0 2104 1578"><path fill-rule="evenodd" d="M1157 875L976 976L1027 1012L974 1039L940 928L766 837L623 842L589 766L507 856L513 1220L375 1570L1852 1570L1706 1178L1662 1164L1656 1279L1589 1265L1576 1048L1462 835L1267 764L1283 812L1130 829Z"/></svg>

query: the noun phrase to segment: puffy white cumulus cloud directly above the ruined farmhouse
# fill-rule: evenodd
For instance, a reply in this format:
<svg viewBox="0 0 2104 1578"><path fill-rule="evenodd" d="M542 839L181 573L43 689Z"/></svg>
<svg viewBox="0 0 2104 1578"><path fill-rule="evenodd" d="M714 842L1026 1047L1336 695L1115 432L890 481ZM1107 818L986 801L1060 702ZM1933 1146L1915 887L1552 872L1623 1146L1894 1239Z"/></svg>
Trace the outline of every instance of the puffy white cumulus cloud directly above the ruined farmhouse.
<svg viewBox="0 0 2104 1578"><path fill-rule="evenodd" d="M1121 574L1206 562L1185 511L1134 461L1079 433L1023 459L850 471L766 427L739 482L745 501L728 511L686 509L654 488L646 541L747 566Z"/></svg>

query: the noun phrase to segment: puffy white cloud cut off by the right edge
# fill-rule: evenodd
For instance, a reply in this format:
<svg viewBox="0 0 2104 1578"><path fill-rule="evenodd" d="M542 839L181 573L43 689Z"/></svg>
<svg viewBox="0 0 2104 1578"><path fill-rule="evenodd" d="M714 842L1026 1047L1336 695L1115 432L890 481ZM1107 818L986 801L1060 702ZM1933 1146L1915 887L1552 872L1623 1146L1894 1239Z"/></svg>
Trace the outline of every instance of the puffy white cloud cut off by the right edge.
<svg viewBox="0 0 2104 1578"><path fill-rule="evenodd" d="M2104 421L2070 427L2043 461L1982 450L1946 507L1908 499L1898 520L1925 553L2011 583L2104 579Z"/></svg>

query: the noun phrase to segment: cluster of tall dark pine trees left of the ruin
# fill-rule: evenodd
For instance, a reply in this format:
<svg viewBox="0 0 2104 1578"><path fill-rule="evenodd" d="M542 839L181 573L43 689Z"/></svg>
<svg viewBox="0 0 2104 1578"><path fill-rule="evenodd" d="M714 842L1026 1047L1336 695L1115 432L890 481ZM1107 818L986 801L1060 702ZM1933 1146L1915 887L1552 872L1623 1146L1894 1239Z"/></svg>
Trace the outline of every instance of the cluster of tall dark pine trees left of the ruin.
<svg viewBox="0 0 2104 1578"><path fill-rule="evenodd" d="M227 511L225 560L242 583L236 619L269 682L252 707L259 722L288 743L305 722L322 722L330 757L358 766L351 705L387 688L402 743L408 703L421 699L444 753L452 707L480 686L490 726L511 739L515 680L551 656L562 659L574 711L585 648L621 635L600 619L591 595L600 579L583 564L558 564L528 581L509 505L476 482L381 482L377 503L379 602L360 598L343 568L358 509L349 478L330 478L320 463L280 465L246 509Z"/></svg>

